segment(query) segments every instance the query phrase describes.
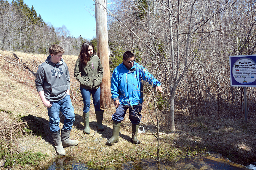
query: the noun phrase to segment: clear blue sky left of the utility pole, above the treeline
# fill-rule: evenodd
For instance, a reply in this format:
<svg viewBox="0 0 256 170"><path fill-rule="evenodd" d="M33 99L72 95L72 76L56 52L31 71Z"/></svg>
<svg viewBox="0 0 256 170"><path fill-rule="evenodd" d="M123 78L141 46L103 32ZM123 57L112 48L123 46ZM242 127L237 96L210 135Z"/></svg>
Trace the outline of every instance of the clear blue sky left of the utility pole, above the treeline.
<svg viewBox="0 0 256 170"><path fill-rule="evenodd" d="M11 1L11 0L9 0ZM65 25L71 36L91 40L96 37L95 2L93 0L23 0L29 8L33 5L37 15L53 27Z"/></svg>

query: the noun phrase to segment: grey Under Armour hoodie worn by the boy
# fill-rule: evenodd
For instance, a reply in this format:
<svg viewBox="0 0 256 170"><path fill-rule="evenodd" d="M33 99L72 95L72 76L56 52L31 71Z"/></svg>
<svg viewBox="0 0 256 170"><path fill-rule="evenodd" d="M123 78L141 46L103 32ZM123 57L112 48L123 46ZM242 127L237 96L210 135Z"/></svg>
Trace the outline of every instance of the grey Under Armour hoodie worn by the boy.
<svg viewBox="0 0 256 170"><path fill-rule="evenodd" d="M44 91L46 100L56 102L63 99L70 89L70 78L67 64L61 59L60 63L52 63L51 55L39 65L36 72L36 89Z"/></svg>

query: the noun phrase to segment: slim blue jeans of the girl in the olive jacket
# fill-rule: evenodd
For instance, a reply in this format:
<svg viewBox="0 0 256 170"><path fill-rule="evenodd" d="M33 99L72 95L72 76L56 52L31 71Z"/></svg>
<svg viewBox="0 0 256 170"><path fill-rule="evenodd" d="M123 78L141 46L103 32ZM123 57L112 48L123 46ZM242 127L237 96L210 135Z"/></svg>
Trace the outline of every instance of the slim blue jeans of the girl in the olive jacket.
<svg viewBox="0 0 256 170"><path fill-rule="evenodd" d="M95 111L100 111L100 87L98 89L84 89L80 87L81 94L84 101L84 112L87 113L90 111L90 105L91 105L91 93L92 93L92 101L94 105Z"/></svg>

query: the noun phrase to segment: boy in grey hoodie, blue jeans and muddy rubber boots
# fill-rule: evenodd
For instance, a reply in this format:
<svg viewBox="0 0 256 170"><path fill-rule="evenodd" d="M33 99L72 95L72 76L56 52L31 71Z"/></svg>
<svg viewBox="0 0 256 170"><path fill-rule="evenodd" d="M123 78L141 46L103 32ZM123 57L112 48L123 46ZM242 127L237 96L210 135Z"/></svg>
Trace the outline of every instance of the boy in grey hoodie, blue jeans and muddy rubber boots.
<svg viewBox="0 0 256 170"><path fill-rule="evenodd" d="M50 55L39 65L36 72L36 89L48 109L49 125L55 149L58 155L64 156L63 147L76 146L78 140L70 140L70 131L75 120L74 108L69 96L70 78L68 66L63 61L64 49L57 44L49 48ZM60 111L65 116L60 134Z"/></svg>

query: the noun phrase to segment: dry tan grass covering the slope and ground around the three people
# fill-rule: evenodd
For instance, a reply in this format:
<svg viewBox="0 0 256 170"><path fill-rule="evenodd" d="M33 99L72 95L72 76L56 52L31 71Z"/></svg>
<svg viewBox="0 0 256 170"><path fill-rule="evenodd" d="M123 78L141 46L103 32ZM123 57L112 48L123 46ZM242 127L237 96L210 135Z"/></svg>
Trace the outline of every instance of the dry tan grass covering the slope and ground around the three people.
<svg viewBox="0 0 256 170"><path fill-rule="evenodd" d="M47 55L0 50L0 138L7 143L12 143L19 153L41 151L48 154L47 159L40 161L38 166L14 165L7 169L35 169L51 163L57 157L49 133L47 108L42 104L35 88L37 66L44 62L46 57ZM95 132L96 117L91 105L91 133L83 134L83 103L79 93L79 83L73 77L77 56L63 55L63 59L69 67L71 98L76 116L71 138L80 141L78 146L65 148L66 156L75 161L81 161L89 167L102 169L109 166L119 167L120 163L127 161L140 161L142 158L156 157L157 140L149 131L146 130L145 133L138 134L141 144L133 145L129 142L131 123L128 115L121 123L119 143L113 146L105 145L112 136L111 116L115 112L113 104L111 108L104 109L104 132ZM143 123L155 131L148 109L144 108L142 115ZM22 120L20 120L20 116L24 116ZM63 116L61 116L61 127L63 120ZM22 124L17 125L20 122ZM255 123L255 120L244 121L243 118L217 120L204 115L192 119L189 115L183 115L183 120L176 122L175 132L169 131L164 124L160 129L161 160L176 161L184 157L220 153L235 163L245 165L255 162ZM29 127L33 133L24 132L23 128L25 127ZM2 158L0 165L4 162L5 158Z"/></svg>

